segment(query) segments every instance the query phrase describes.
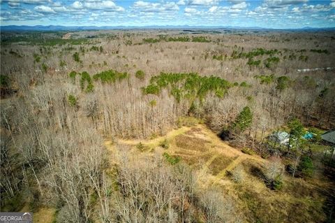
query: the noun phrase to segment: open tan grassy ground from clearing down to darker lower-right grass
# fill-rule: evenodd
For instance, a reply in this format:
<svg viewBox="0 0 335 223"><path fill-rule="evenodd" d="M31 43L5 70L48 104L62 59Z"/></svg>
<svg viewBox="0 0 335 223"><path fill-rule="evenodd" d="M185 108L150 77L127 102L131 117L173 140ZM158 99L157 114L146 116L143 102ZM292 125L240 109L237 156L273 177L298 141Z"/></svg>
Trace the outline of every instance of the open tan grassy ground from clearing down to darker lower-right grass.
<svg viewBox="0 0 335 223"><path fill-rule="evenodd" d="M159 144L167 139L169 148ZM237 210L245 216L246 222L322 222L324 197L318 192L320 180L303 180L284 174L281 191L269 189L255 170L264 171L269 163L258 155L244 154L221 141L216 134L202 124L196 127L182 127L170 131L166 136L152 140L117 140L135 156L153 156L168 152L181 157L198 175L199 184L206 189L209 185L221 188L234 199ZM142 143L144 152L136 145ZM105 145L112 152L111 141ZM115 154L113 156L115 161ZM246 173L244 181L237 184L228 174L236 166L242 166ZM257 171L256 171L257 172ZM316 181L316 182L315 182Z"/></svg>

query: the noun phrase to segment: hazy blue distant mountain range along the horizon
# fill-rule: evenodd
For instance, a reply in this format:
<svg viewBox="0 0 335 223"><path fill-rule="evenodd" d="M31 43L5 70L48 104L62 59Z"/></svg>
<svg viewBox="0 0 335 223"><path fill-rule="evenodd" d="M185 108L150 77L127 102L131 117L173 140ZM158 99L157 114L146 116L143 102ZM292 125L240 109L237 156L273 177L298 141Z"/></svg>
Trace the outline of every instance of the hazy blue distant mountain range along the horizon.
<svg viewBox="0 0 335 223"><path fill-rule="evenodd" d="M291 31L335 31L335 27L330 28L313 28L304 27L301 29L269 29L262 27L218 27L218 26L144 26L144 27L126 27L126 26L116 26L116 27L95 27L95 26L82 26L82 27L65 27L65 26L0 26L1 31L79 31L79 30L102 30L102 29L253 29L253 30L291 30Z"/></svg>

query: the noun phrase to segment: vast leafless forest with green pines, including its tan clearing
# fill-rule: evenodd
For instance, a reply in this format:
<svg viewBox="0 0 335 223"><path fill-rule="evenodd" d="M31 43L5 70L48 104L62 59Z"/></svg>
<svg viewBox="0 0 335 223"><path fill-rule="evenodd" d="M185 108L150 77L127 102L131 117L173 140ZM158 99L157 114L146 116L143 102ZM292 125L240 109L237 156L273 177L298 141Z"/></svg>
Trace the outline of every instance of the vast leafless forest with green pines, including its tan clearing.
<svg viewBox="0 0 335 223"><path fill-rule="evenodd" d="M335 127L334 41L334 32L2 32L1 212L334 221L334 144L322 140Z"/></svg>

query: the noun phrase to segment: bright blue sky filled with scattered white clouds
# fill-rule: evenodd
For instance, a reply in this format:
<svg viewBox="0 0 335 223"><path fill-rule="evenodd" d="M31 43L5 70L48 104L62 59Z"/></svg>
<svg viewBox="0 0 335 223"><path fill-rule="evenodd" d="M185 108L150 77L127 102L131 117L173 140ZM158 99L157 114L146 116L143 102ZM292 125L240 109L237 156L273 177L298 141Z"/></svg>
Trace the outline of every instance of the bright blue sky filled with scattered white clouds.
<svg viewBox="0 0 335 223"><path fill-rule="evenodd" d="M0 0L0 24L335 27L335 0Z"/></svg>

